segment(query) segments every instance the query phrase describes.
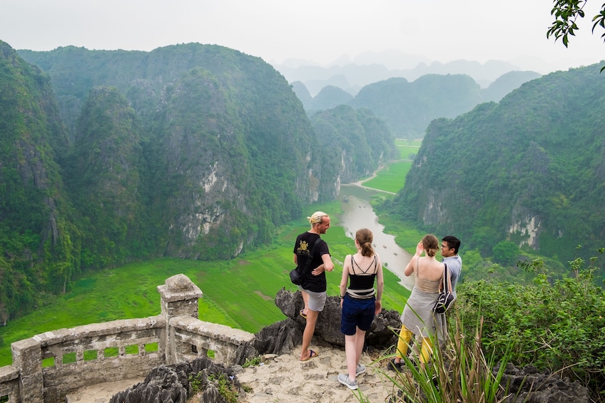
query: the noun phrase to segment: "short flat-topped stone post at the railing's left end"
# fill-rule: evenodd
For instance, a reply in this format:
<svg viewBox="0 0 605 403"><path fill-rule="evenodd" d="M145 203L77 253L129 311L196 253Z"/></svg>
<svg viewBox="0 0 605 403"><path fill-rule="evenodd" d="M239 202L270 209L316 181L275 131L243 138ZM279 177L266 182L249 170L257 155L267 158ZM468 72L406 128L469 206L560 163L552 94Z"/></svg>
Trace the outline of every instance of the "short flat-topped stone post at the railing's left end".
<svg viewBox="0 0 605 403"><path fill-rule="evenodd" d="M34 339L19 340L11 344L13 366L19 369L21 402L44 403L44 377L42 376L42 349Z"/></svg>

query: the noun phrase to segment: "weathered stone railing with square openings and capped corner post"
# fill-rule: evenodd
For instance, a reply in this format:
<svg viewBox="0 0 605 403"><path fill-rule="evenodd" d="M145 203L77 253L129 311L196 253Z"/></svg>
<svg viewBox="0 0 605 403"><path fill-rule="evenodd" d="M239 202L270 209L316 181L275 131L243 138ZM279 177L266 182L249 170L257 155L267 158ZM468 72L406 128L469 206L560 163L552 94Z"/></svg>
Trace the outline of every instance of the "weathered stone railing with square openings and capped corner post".
<svg viewBox="0 0 605 403"><path fill-rule="evenodd" d="M254 335L198 320L200 289L185 275L158 286L161 314L54 330L11 345L0 402L58 403L100 382L143 378L153 367L208 356L241 363Z"/></svg>

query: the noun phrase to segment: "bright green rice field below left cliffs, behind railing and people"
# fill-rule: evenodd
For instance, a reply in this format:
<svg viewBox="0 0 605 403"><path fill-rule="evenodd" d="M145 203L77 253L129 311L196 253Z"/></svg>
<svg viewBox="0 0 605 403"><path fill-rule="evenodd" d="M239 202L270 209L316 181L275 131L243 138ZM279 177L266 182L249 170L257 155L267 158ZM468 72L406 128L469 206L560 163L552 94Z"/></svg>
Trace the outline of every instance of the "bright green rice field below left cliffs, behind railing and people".
<svg viewBox="0 0 605 403"><path fill-rule="evenodd" d="M322 238L330 245L335 270L327 275L327 294L338 295L342 261L355 252L355 245L337 223L340 202L315 205L309 210L330 213L332 228ZM203 292L199 301L200 320L258 332L285 319L275 305L278 291L295 291L288 272L294 267L293 245L296 235L308 230L305 218L280 228L276 241L265 250L245 253L233 260L200 262L163 258L131 263L111 270L91 272L76 281L65 295L49 305L0 327L0 366L11 364L11 342L42 332L88 325L110 320L159 315L160 295L156 290L166 278L183 273ZM408 290L398 278L385 270L382 305L402 310Z"/></svg>

